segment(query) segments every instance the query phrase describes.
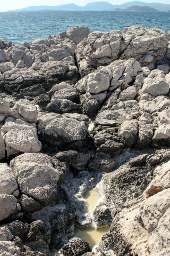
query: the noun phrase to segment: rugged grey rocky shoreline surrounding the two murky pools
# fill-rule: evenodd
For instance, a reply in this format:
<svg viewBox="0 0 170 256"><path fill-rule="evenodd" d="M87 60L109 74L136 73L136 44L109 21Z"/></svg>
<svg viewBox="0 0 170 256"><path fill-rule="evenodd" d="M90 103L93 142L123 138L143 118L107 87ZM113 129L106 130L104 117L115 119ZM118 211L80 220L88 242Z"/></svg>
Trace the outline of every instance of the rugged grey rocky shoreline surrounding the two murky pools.
<svg viewBox="0 0 170 256"><path fill-rule="evenodd" d="M170 254L169 35L77 26L0 41L0 255ZM93 251L72 238L109 223Z"/></svg>

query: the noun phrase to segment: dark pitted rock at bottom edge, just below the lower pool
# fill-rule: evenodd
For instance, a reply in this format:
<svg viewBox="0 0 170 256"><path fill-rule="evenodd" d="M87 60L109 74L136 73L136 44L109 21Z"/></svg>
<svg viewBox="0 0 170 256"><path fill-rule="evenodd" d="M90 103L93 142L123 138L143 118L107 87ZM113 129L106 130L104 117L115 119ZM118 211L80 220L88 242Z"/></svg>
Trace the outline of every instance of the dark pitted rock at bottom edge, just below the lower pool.
<svg viewBox="0 0 170 256"><path fill-rule="evenodd" d="M81 256L83 253L91 252L91 247L81 238L72 238L68 244L65 244L62 248L64 256Z"/></svg>

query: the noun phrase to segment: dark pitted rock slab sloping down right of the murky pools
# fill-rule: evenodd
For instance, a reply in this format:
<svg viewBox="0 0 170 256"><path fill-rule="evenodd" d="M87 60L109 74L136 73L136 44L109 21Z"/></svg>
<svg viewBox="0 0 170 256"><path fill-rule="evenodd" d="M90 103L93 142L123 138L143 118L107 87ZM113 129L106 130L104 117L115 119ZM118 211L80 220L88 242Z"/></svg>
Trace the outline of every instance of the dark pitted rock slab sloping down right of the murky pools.
<svg viewBox="0 0 170 256"><path fill-rule="evenodd" d="M140 196L147 188L150 179L150 169L145 165L130 167L128 164L124 164L117 170L104 174L105 204L110 210L112 209L112 216L118 207Z"/></svg>

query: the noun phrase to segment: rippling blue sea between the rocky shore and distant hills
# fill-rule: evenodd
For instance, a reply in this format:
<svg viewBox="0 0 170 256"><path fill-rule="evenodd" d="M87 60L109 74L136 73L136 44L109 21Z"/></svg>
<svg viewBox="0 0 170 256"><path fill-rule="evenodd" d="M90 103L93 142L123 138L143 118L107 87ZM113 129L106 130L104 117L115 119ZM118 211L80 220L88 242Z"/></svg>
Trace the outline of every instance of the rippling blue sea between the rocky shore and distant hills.
<svg viewBox="0 0 170 256"><path fill-rule="evenodd" d="M73 26L90 30L122 30L133 25L170 30L170 13L166 12L101 12L39 11L0 12L0 38L15 44L58 35Z"/></svg>

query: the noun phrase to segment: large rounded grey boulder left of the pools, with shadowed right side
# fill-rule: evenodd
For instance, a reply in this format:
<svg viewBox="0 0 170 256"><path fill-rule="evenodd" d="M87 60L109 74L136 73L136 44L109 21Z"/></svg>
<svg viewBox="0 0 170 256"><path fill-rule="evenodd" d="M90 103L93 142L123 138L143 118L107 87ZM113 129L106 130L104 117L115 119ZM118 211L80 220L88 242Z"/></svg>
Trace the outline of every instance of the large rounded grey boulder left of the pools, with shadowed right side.
<svg viewBox="0 0 170 256"><path fill-rule="evenodd" d="M10 167L15 174L21 194L34 199L42 206L47 205L56 195L61 174L66 171L65 165L59 161L55 168L53 164L49 156L40 153L25 153L15 157ZM29 203L29 200L27 202ZM32 201L30 205L33 207Z"/></svg>

